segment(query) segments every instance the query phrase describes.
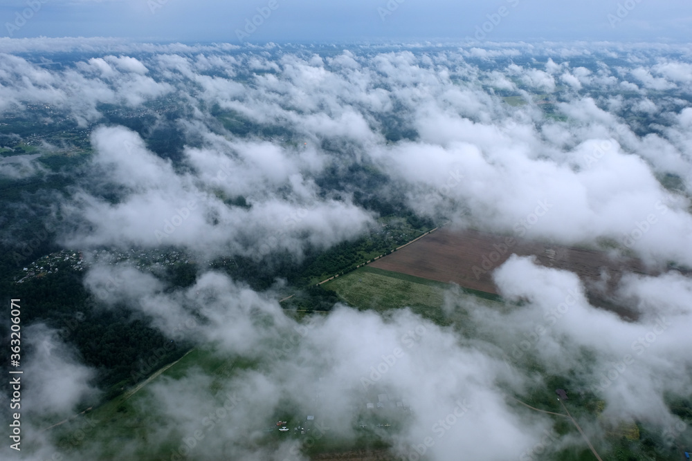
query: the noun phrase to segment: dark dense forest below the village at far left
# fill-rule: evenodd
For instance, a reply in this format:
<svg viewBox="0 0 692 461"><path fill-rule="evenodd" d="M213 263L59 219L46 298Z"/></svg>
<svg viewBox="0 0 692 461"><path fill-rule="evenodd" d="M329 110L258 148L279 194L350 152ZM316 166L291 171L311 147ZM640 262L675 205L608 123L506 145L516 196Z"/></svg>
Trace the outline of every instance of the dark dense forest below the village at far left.
<svg viewBox="0 0 692 461"><path fill-rule="evenodd" d="M121 389L182 355L190 344L170 344L172 338L152 328L150 319L127 305L112 308L86 292L82 274L67 263L58 271L21 284L3 286L3 302L21 299L23 344L29 344L26 327L44 323L57 330L62 341L75 346L78 359L98 370L94 384L111 397ZM10 296L7 294L11 293ZM9 335L8 317L1 319L2 337ZM7 357L3 357L6 361ZM23 357L30 361L30 355ZM26 363L26 362L25 362ZM5 364L7 365L7 364Z"/></svg>

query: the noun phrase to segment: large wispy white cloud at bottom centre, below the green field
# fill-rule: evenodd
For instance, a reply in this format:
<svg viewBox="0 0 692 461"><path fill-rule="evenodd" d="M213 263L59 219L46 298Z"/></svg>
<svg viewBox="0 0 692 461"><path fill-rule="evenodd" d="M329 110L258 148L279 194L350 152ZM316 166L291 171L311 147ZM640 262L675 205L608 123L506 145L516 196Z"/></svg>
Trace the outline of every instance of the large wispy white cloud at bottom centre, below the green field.
<svg viewBox="0 0 692 461"><path fill-rule="evenodd" d="M262 449L248 444L247 437L259 437L289 404L317 415L313 438L320 437L322 428L329 437L356 440L359 421L374 427L366 404L383 393L391 402L386 414L392 422L406 422L406 429L381 435L405 457L431 437L435 459L472 446L475 455L499 460L517 446L534 444L547 428L541 417L517 414L504 397L508 389L521 389L525 378L489 353L490 346L479 350L460 341L453 330L409 310L382 317L342 306L325 318L299 324L276 301L212 273L188 290L138 291L136 296L131 305L166 324L179 321L194 306L199 328L189 331L189 339L215 344L222 357L255 363L232 368L223 382L191 368L179 379L159 379L149 386L152 398L139 401L140 411L165 421L152 426L150 440L176 446L201 431L204 442L193 450L205 456L260 459L283 449L295 454L291 459L302 459L288 442L283 448ZM157 324L168 331L164 323ZM401 402L414 412L403 411ZM451 427L439 424L451 419ZM502 430L493 430L498 428Z"/></svg>

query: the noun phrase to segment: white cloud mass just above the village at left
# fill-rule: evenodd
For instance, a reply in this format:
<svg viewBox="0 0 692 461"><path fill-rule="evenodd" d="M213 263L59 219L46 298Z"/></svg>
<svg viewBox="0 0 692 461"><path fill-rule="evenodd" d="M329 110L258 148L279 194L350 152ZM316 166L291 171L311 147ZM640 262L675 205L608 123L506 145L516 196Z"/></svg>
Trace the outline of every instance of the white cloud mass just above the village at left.
<svg viewBox="0 0 692 461"><path fill-rule="evenodd" d="M92 139L93 162L104 172L102 179L129 192L115 204L84 192L66 204L66 213L90 225L89 232L78 229L66 236L66 245L172 244L202 254L226 248L221 253L246 256L263 256L262 245L271 245L300 257L306 245L328 247L372 223L370 214L349 200L318 197L313 182L303 176L316 167L313 151L287 152L266 142L224 143L227 153L192 149L190 160L202 173L197 178L174 171L122 127L96 129ZM278 191L285 187L292 192L282 198ZM217 188L232 198L244 196L251 207L227 205L213 194Z"/></svg>

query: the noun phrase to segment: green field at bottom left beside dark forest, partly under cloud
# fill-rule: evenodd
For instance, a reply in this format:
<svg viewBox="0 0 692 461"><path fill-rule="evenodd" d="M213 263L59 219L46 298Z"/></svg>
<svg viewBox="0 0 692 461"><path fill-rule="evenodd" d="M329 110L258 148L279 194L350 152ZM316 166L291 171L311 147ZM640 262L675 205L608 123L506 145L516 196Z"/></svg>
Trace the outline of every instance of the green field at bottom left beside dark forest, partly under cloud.
<svg viewBox="0 0 692 461"><path fill-rule="evenodd" d="M150 386L162 379L178 381L195 376L203 377L199 382L202 385L195 388L195 392L213 396L212 398L217 403L216 408L221 408L224 405L224 399L230 395L226 384L237 373L262 366L260 361L251 361L242 357L224 358L214 350L194 348L170 368L154 377L150 384L147 383L138 389L128 389L109 402L48 429L47 433L63 455L79 451L96 453L94 459L99 460L169 460L172 452L179 451L182 441L186 438L189 440L190 429L185 432L185 429L178 426L170 426L170 418L158 408L158 400L154 399L149 391ZM133 393L135 390L136 392ZM319 410L313 414L320 417ZM242 431L246 436L248 446L267 446L273 449L278 449L278 446L286 439L304 439L310 434L298 434L293 431L280 433L275 426L277 420L285 420L288 422L286 426L289 427L309 428L313 424L306 422L304 409L298 408L290 396L284 396L277 405L275 415L273 418L268 418L264 426L237 428L237 430ZM51 424L55 422L46 422L46 427ZM192 427L201 431L205 435L205 440L217 442L223 440L228 424L233 424L230 417L221 417L219 424L214 426L215 429L204 425L201 420L194 422ZM271 431L264 431L264 429L271 429ZM264 435L257 435L262 431ZM361 430L356 434L354 440L344 439L337 433L328 433L325 437L313 437L311 444L304 446L304 454L314 456L320 453L382 450L390 447L374 431ZM138 442L136 444L138 451L125 451L125 446L133 441ZM197 459L195 455L203 453L203 450L203 444L199 444L197 448L190 451L187 458L183 459Z"/></svg>

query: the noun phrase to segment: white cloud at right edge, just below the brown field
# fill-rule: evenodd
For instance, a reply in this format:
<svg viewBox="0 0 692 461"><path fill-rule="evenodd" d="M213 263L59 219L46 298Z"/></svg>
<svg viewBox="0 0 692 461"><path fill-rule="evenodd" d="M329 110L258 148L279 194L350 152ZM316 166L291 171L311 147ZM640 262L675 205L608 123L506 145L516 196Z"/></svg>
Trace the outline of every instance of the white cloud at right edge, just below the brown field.
<svg viewBox="0 0 692 461"><path fill-rule="evenodd" d="M529 258L510 258L495 272L495 282L509 299L528 301L484 325L488 332L500 328L498 322L514 326L509 337L496 337L507 344L512 361L538 355L548 369L574 373L583 390L604 395L604 415L614 420L676 420L665 402L668 393L682 397L689 386L691 364L679 348L687 341L684 326L692 321L684 301L689 279L628 276L621 295L636 300L641 317L635 322L589 305L574 274L534 265ZM669 294L654 289L663 286ZM475 315L484 322L488 314ZM527 339L530 348L522 344ZM585 361L588 351L598 351L591 364Z"/></svg>

